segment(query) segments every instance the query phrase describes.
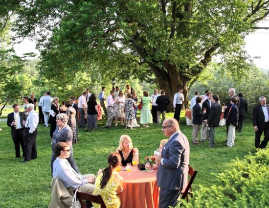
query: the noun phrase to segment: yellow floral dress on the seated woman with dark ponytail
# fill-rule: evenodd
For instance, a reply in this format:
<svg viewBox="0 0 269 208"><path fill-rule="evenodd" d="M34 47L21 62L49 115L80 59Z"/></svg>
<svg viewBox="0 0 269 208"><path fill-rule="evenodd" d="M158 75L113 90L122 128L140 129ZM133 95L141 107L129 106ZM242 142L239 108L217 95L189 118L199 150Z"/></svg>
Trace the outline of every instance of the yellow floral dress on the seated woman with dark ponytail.
<svg viewBox="0 0 269 208"><path fill-rule="evenodd" d="M120 207L120 199L117 196L116 190L118 185L116 185L115 174L117 172L112 172L110 180L106 187L103 189L100 188L101 178L103 173L96 177L95 189L92 194L97 195L100 194L105 202L107 208L119 208ZM99 204L92 203L94 208L100 208Z"/></svg>

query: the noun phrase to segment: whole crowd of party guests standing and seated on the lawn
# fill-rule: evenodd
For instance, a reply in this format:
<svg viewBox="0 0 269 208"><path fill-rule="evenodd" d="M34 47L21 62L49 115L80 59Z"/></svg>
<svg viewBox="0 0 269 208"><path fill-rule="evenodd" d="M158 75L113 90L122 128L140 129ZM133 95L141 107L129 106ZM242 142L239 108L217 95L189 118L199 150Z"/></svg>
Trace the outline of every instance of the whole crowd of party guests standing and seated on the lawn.
<svg viewBox="0 0 269 208"><path fill-rule="evenodd" d="M102 119L102 110L107 117L105 128L111 128L113 120L115 126L125 126L127 129L133 129L139 126L136 121L137 109L140 109L139 123L142 127L149 127L153 122L161 124L160 115L162 115L162 132L168 138L160 142L159 152L156 155L157 164L157 185L160 187L159 208L175 207L183 187L187 183L187 173L189 164L189 143L188 139L179 130L180 112L183 107L184 95L183 89L175 93L173 106L174 118L166 118L165 111L170 104L170 100L165 96L163 90L158 94L149 96L149 92L144 91L140 98L136 92L126 86L123 92L116 87L110 91L106 97L106 88L97 98L89 89L82 93L76 99L70 97L69 101L63 101L59 105L58 97L50 97L50 92L45 92L38 103L39 115L35 108L37 99L31 93L30 97L23 97L23 112L20 112L20 105L14 104L14 112L8 115L7 125L11 127L11 135L15 145L16 158L21 158L20 145L24 157L24 163L37 158L36 137L37 126L43 124L50 127L50 138L52 144L51 155L51 175L60 179L63 185L72 194L73 188L80 191L101 194L105 204L110 207L120 207L120 200L117 194L120 194L123 179L117 173L118 166L125 166L127 163L133 164L139 162L138 149L133 147L131 138L128 135L122 135L119 139L119 146L108 156L108 167L98 171L95 175L82 175L73 158L72 145L78 142L78 128L85 128L86 131L93 132L97 129L97 121ZM215 128L219 126L222 111L226 124L228 147L235 145L235 131L243 131L244 119L247 115L247 101L243 94L236 95L234 89L229 89L229 102L222 106L219 95L210 91L191 99L191 113L193 123L192 142L199 144L199 133L201 131L201 141L209 140L209 146L215 146ZM252 121L255 130L255 147L265 148L269 141L269 105L266 104L266 98L259 98L260 104L253 109ZM138 105L139 103L139 105ZM152 104L152 111L150 110ZM139 107L140 106L140 107ZM50 125L49 125L50 123ZM125 124L124 124L125 123ZM265 138L261 142L261 135ZM173 177L178 174L179 177ZM166 177L163 181L161 178ZM93 205L97 207L97 205Z"/></svg>

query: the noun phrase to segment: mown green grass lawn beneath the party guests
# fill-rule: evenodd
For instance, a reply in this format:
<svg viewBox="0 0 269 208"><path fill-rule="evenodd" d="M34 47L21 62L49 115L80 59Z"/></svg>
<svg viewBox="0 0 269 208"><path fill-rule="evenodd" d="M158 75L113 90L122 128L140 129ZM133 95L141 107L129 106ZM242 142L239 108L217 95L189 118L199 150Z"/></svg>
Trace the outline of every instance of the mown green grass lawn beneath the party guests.
<svg viewBox="0 0 269 208"><path fill-rule="evenodd" d="M168 117L173 114L168 114ZM98 130L85 132L79 129L78 144L73 146L73 156L83 174L97 173L106 167L107 156L114 151L122 134L129 135L140 152L140 162L153 154L159 141L165 139L161 126L150 124L150 128L126 130L122 126L103 128L105 120L98 123ZM50 156L51 145L49 128L38 126L38 158L27 164L22 159L15 159L14 144L10 128L0 122L0 208L47 208L50 202ZM226 127L216 128L216 147L208 147L209 142L192 144L192 127L186 126L184 112L181 113L180 130L190 142L190 165L198 170L193 189L199 185L210 187L216 183L218 173L229 170L233 159L244 159L249 151L254 150L254 131L250 121L244 125L242 133L236 132L235 147L227 148L224 140Z"/></svg>

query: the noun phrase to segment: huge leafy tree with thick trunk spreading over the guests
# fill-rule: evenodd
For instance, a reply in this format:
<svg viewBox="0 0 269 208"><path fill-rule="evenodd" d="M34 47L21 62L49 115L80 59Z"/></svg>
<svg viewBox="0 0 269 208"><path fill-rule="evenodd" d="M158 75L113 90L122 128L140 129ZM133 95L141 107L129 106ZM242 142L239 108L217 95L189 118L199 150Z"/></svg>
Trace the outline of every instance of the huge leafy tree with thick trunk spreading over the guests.
<svg viewBox="0 0 269 208"><path fill-rule="evenodd" d="M244 69L244 37L269 14L269 0L24 0L17 34L38 40L41 73L70 82L77 71L107 79L152 74L172 98L187 95L219 55ZM152 80L151 80L152 81Z"/></svg>

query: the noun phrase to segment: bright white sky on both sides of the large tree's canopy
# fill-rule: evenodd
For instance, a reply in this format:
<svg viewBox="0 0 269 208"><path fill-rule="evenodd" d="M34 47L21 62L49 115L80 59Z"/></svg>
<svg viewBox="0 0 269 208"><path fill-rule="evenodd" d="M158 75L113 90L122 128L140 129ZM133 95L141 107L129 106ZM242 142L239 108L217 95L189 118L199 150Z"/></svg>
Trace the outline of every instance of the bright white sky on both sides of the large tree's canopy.
<svg viewBox="0 0 269 208"><path fill-rule="evenodd" d="M269 23L267 23L268 26ZM265 23L259 26L266 26ZM254 59L254 64L258 68L269 69L269 30L258 29L253 34L246 37L246 50L251 57L260 56ZM21 44L14 46L17 55L22 56L23 53L34 52L40 54L35 49L35 42L25 39Z"/></svg>

